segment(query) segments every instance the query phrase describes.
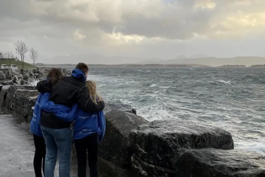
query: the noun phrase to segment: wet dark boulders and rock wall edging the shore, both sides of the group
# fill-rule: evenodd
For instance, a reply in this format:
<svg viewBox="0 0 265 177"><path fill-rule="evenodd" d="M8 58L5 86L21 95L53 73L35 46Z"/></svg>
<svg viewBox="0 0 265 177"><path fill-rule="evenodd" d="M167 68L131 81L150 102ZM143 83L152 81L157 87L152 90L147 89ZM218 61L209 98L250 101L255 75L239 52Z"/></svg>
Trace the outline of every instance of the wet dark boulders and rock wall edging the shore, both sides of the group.
<svg viewBox="0 0 265 177"><path fill-rule="evenodd" d="M45 78L45 73L39 71L39 78ZM36 88L20 84L0 88L0 109L29 125ZM265 177L265 157L234 150L226 130L183 120L148 122L122 103L106 103L105 117L107 130L99 149L101 176ZM73 160L74 152L73 148Z"/></svg>

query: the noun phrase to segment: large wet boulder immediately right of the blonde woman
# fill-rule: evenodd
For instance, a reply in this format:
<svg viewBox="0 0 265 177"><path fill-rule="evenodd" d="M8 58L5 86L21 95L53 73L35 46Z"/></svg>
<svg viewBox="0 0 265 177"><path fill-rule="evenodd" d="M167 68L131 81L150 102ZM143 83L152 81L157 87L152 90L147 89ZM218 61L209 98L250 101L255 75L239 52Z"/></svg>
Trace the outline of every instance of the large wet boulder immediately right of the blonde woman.
<svg viewBox="0 0 265 177"><path fill-rule="evenodd" d="M99 156L114 165L130 168L130 132L148 121L135 114L118 110L107 112L105 118L107 130L100 143Z"/></svg>

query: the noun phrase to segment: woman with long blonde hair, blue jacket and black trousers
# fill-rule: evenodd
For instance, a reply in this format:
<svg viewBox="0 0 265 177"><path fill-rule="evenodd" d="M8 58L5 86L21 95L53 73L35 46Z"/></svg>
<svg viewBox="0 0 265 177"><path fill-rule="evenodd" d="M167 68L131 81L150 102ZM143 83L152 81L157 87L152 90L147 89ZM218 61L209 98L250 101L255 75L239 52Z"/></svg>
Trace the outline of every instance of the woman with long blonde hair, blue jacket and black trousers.
<svg viewBox="0 0 265 177"><path fill-rule="evenodd" d="M97 105L99 101L102 101L102 97L96 92L96 83L86 81L86 85L89 90L90 99ZM104 137L105 129L106 121L103 111L97 113L78 111L75 117L73 133L77 154L78 177L86 177L87 160L90 177L98 177L98 146Z"/></svg>

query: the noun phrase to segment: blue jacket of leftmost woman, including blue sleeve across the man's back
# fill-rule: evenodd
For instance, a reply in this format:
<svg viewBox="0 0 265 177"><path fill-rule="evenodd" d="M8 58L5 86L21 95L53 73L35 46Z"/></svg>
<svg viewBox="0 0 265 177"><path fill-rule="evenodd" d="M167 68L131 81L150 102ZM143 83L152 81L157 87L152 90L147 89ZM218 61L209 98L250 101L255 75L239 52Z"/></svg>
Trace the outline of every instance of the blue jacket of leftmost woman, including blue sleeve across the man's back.
<svg viewBox="0 0 265 177"><path fill-rule="evenodd" d="M46 107L44 107L45 111L47 112L51 112L53 113L55 116L59 117L59 118L68 118L69 113L71 112L71 109L67 106L63 106L60 104L49 104L49 97L50 94L49 93L39 93L35 106L34 106L34 110L33 110L33 116L30 122L30 131L37 135L37 136L43 136L42 135L42 131L40 129L40 125L39 125L39 120L41 117L41 109L42 109L42 105L48 105ZM76 108L75 108L76 109ZM74 114L74 112L71 112L70 115ZM72 115L73 117L76 114Z"/></svg>

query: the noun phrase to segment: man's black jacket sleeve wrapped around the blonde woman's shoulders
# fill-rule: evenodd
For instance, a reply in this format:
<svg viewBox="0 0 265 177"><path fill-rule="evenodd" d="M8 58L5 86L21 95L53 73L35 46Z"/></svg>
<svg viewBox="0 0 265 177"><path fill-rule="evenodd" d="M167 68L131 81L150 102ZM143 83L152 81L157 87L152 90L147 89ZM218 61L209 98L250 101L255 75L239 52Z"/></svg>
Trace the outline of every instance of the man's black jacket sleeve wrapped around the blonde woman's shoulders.
<svg viewBox="0 0 265 177"><path fill-rule="evenodd" d="M97 113L105 108L104 101L98 101L97 105L90 99L86 86L82 87L77 94L77 105L85 112Z"/></svg>

